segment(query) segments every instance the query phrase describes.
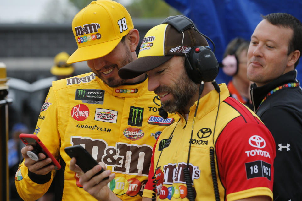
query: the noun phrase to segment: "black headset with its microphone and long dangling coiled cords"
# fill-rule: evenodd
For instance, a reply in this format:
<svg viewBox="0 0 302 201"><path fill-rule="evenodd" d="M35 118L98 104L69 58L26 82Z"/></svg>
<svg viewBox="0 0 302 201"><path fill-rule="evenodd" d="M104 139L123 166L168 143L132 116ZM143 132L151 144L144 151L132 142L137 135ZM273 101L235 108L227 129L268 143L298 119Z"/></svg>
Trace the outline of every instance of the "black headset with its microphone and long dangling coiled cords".
<svg viewBox="0 0 302 201"><path fill-rule="evenodd" d="M217 84L217 82L215 81L215 78L217 77L218 71L219 71L219 63L214 55L215 44L209 37L200 33L199 30L196 28L195 24L193 23L193 21L191 19L187 18L186 16L183 16L183 15L170 16L170 17L166 18L161 24L170 24L178 32L183 34L181 48L184 53L184 56L186 57L185 69L186 69L187 75L193 82L200 84L199 97L198 97L197 106L195 109L194 120L195 120L196 113L197 113L199 99L200 99L200 96L204 89L204 82L211 82L213 84L215 90L219 93L218 109L217 109L217 115L216 115L215 124L214 124L214 132L213 132L213 144L214 144L215 127L216 127L217 116L218 116L218 111L219 111L219 103L220 103L220 88L219 88L219 85ZM184 31L191 27L193 27L194 30L196 32L198 32L200 35L202 35L204 38L207 38L209 41L211 41L211 43L213 44L213 49L214 49L213 52L209 46L194 46L186 54L186 52L184 51L184 47L182 45L183 39L184 39ZM168 113L162 108L162 106L159 108L159 115L161 117L163 117L164 119L168 117ZM183 169L183 174L184 174L185 182L187 185L187 198L190 201L193 201L195 199L195 195L194 195L194 191L193 191L193 187L192 187L192 179L191 179L190 172L189 172L190 149L191 149L191 142L192 142L192 137L193 137L193 128L194 128L194 122L195 122L194 120L193 120L191 140L190 140L189 150L188 150L187 167ZM174 130L173 130L173 132L174 132ZM171 135L173 134L173 132L171 133ZM163 149L161 150L160 155L162 154L162 151L163 151ZM160 155L159 155L159 158L160 158ZM157 164L158 164L158 162L159 162L159 159L157 161ZM216 201L218 201L218 200L220 200L220 196L219 196L216 169L215 169L215 149L213 147L210 147L210 166L211 166L211 174L212 174L212 180L213 180L215 199L216 199ZM154 172L153 179L155 179L155 172ZM155 186L155 184L154 184L154 186ZM155 199L156 199L155 189L154 189L152 198L153 198L152 200L155 201Z"/></svg>

